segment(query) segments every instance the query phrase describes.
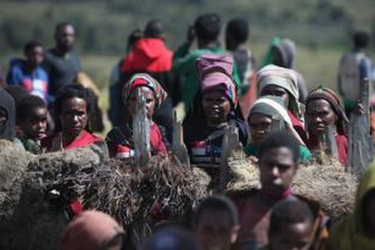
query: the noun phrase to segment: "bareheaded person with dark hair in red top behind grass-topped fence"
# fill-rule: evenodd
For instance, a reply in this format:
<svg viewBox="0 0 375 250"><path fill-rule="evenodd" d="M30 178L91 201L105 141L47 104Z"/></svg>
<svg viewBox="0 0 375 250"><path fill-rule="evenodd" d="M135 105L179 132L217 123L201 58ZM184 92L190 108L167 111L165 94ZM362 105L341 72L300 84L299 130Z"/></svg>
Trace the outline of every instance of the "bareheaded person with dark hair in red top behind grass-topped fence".
<svg viewBox="0 0 375 250"><path fill-rule="evenodd" d="M91 144L102 146L102 139L89 131L88 117L92 108L92 96L79 84L70 84L57 92L54 110L57 118L57 134L44 142L48 151L72 149Z"/></svg>

